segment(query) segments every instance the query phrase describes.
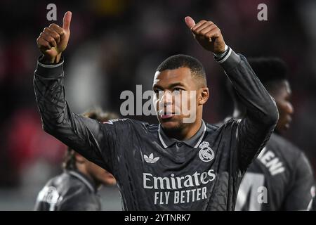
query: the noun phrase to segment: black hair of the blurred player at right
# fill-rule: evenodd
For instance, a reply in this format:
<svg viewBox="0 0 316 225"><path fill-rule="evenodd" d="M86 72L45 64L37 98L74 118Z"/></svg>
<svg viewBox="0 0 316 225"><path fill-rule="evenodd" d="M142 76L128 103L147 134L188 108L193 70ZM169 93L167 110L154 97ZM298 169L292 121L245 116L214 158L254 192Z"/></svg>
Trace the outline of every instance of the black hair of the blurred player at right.
<svg viewBox="0 0 316 225"><path fill-rule="evenodd" d="M275 88L277 82L288 79L287 64L280 58L249 58L248 62L268 91Z"/></svg>

